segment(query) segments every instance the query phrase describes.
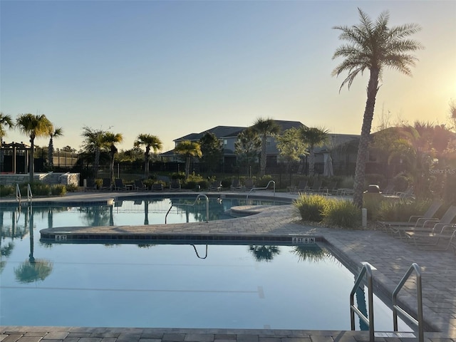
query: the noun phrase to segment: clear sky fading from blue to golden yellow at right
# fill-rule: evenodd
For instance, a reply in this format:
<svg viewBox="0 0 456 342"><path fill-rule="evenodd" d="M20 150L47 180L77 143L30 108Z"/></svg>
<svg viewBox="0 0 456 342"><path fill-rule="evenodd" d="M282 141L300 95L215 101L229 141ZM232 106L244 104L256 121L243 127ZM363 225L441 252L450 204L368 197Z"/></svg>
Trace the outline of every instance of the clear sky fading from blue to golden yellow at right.
<svg viewBox="0 0 456 342"><path fill-rule="evenodd" d="M359 134L368 72L348 90L331 71L342 59L334 26L358 8L390 25L419 24L413 76L385 70L373 131L391 124L449 123L456 101L456 1L0 0L0 110L45 114L81 148L83 127L173 140L258 118L296 120ZM6 142L28 138L9 130ZM37 138L46 146L48 138Z"/></svg>

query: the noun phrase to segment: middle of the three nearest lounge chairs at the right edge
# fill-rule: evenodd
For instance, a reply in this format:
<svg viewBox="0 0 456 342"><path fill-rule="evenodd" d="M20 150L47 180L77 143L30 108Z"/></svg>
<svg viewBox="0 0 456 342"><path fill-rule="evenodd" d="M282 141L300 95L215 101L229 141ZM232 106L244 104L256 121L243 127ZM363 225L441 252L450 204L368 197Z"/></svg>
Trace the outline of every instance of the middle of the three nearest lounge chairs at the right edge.
<svg viewBox="0 0 456 342"><path fill-rule="evenodd" d="M413 226L396 226L389 227L391 232L401 239L407 239L409 241L417 239L421 235L440 233L442 228L451 225L453 219L456 217L456 206L452 205L443 214L441 219L419 219L420 224L414 224ZM418 221L418 220L417 220Z"/></svg>

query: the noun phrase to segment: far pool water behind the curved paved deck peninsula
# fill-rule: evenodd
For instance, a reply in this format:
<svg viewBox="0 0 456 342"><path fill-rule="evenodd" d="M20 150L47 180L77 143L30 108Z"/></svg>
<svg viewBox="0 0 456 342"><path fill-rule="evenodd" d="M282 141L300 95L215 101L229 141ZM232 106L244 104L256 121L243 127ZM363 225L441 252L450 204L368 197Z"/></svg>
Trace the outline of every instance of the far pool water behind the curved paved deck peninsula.
<svg viewBox="0 0 456 342"><path fill-rule="evenodd" d="M177 198L137 198L116 199L113 205L84 206L42 206L0 207L0 224L5 227L14 225L20 229L27 224L31 213L33 224L43 228L53 227L95 227L113 225L142 225L185 222L205 222L206 201L195 197ZM171 205L172 204L172 205ZM249 199L222 198L209 199L209 221L231 219L231 207L239 205L279 205L285 202ZM171 208L171 209L170 209ZM168 213L168 210L170 212Z"/></svg>

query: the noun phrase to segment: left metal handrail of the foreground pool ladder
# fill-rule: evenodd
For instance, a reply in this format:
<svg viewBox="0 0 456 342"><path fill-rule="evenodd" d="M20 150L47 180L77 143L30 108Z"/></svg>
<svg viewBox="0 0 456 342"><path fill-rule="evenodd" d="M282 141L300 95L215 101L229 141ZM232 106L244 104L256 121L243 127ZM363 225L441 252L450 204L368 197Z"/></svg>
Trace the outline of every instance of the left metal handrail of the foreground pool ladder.
<svg viewBox="0 0 456 342"><path fill-rule="evenodd" d="M363 280L363 276L366 274L368 279L368 305L369 305L369 312L368 317L364 316L364 314L355 306L355 293L358 287ZM358 278L353 285L353 289L350 293L350 322L351 322L351 330L355 330L355 314L361 318L364 323L369 326L369 341L374 342L374 327L373 327L373 276L372 276L372 269L371 265L368 263L363 264L363 268L359 272Z"/></svg>

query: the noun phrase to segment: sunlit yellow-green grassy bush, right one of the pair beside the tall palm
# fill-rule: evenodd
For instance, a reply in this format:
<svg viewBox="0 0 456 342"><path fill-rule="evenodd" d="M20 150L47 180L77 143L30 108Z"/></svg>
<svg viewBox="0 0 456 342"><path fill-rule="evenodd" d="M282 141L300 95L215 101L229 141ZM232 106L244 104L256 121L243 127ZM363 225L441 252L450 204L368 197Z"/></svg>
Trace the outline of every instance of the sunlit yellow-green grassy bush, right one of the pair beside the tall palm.
<svg viewBox="0 0 456 342"><path fill-rule="evenodd" d="M361 226L361 210L351 200L328 200L323 207L323 223L355 229Z"/></svg>

